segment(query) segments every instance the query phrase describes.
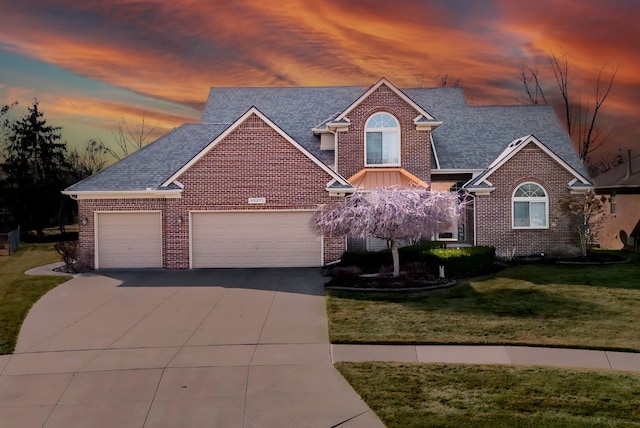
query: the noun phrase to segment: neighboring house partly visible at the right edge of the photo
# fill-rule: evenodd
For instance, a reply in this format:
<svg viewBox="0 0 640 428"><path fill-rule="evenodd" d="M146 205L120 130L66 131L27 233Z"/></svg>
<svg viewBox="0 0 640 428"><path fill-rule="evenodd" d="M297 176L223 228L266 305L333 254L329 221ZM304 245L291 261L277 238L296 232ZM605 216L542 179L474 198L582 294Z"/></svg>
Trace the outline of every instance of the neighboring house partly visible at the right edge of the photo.
<svg viewBox="0 0 640 428"><path fill-rule="evenodd" d="M596 192L607 196L604 220L596 231L601 248L638 250L640 243L640 154L593 179Z"/></svg>

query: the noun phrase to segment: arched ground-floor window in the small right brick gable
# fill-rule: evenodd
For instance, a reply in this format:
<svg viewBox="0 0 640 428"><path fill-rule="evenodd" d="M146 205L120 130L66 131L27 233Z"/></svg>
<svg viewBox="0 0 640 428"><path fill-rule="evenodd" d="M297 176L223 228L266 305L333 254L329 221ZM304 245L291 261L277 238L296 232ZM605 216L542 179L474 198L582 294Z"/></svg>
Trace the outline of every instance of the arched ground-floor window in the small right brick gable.
<svg viewBox="0 0 640 428"><path fill-rule="evenodd" d="M513 192L513 228L547 229L549 198L537 183L523 183Z"/></svg>

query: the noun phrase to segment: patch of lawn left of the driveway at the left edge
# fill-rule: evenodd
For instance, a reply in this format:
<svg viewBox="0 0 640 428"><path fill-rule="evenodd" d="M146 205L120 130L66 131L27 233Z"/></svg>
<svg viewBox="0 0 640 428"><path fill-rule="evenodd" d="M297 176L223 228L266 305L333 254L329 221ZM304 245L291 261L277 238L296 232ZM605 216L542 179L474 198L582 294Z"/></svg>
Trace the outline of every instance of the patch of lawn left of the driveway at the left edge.
<svg viewBox="0 0 640 428"><path fill-rule="evenodd" d="M21 244L11 256L0 258L0 355L13 352L18 333L31 306L67 277L29 276L28 269L60 261L53 244Z"/></svg>

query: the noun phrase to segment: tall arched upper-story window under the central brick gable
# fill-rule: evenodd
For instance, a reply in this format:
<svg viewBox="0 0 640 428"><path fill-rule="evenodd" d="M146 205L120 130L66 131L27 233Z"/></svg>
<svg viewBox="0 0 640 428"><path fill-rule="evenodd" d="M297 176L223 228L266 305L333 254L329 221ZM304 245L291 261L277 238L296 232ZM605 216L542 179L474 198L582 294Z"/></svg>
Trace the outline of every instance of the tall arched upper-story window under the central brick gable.
<svg viewBox="0 0 640 428"><path fill-rule="evenodd" d="M373 114L365 124L365 165L400 166L400 124L389 113Z"/></svg>

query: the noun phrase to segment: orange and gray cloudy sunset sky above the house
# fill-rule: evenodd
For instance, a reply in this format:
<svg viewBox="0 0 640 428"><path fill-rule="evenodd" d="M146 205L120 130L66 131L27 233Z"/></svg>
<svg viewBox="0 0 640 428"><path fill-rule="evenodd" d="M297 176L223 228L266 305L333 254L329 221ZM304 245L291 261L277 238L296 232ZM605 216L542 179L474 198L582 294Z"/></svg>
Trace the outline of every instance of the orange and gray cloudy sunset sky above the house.
<svg viewBox="0 0 640 428"><path fill-rule="evenodd" d="M70 146L109 143L123 117L198 121L211 86L449 75L472 104L514 104L522 65L545 73L553 51L585 100L618 67L600 125L640 150L639 18L637 0L0 0L0 104L37 97Z"/></svg>

